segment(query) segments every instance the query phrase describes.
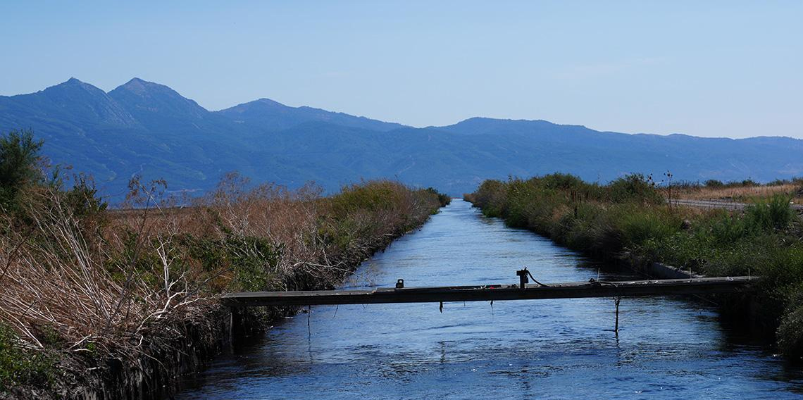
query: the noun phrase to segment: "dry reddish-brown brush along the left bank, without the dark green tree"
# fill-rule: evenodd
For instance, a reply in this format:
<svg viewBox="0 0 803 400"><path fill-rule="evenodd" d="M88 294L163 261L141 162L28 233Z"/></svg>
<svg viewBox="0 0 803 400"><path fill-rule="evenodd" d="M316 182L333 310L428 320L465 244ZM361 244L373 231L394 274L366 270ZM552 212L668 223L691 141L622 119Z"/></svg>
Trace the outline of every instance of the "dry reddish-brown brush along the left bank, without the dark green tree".
<svg viewBox="0 0 803 400"><path fill-rule="evenodd" d="M220 293L331 287L438 208L437 194L397 182L331 198L247 187L230 175L180 208L139 185L131 205L144 208L91 216L31 190L25 218L0 218L0 323L29 351L134 362L209 324Z"/></svg>

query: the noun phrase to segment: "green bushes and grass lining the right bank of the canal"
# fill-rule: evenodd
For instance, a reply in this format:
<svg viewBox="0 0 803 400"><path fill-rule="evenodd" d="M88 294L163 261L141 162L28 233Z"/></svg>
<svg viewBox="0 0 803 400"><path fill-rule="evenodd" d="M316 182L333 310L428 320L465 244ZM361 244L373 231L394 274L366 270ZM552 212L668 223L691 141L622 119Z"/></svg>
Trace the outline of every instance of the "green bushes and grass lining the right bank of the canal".
<svg viewBox="0 0 803 400"><path fill-rule="evenodd" d="M464 198L486 216L503 218L511 227L527 228L596 259L637 268L663 263L703 276L760 276L752 305L737 300L724 311L752 308L749 315L769 328L781 353L800 359L803 222L789 204L801 193L800 183L797 192L750 198L743 211L674 206L667 198L676 198L672 196L678 190L711 188L685 182L659 187L638 173L607 185L563 173L487 180Z"/></svg>

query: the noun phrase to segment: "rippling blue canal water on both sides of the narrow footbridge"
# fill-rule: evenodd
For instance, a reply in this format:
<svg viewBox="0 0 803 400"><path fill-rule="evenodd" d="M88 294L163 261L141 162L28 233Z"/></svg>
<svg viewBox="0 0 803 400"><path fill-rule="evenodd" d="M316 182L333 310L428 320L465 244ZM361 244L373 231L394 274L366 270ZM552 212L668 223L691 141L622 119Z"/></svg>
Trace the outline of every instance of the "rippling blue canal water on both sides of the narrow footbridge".
<svg viewBox="0 0 803 400"><path fill-rule="evenodd" d="M633 276L461 200L344 288ZM177 399L803 398L803 374L702 301L612 299L316 306L188 377Z"/></svg>

